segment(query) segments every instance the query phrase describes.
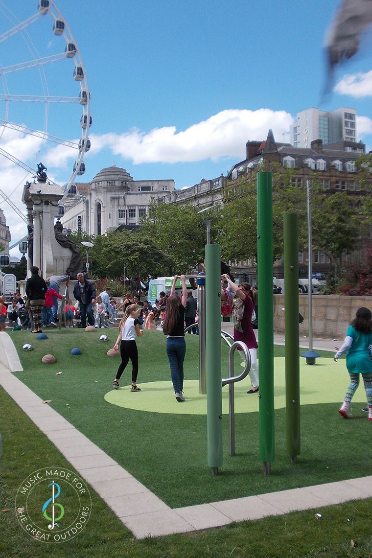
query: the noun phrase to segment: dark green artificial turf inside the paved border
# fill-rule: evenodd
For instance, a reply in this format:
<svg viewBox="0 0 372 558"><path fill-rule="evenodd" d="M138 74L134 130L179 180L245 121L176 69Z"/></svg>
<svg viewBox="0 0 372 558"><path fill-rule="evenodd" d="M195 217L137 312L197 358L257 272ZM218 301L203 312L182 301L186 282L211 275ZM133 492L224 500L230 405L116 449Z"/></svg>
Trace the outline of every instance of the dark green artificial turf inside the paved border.
<svg viewBox="0 0 372 558"><path fill-rule="evenodd" d="M371 430L366 417L341 420L330 403L301 407L297 465L289 463L286 453L285 410L275 411L276 457L269 477L263 475L259 461L258 413L236 415L234 457L228 455L226 417L224 464L220 474L212 477L207 466L206 416L134 411L104 401L120 361L106 355L117 331L108 331L110 343L98 341L98 333L48 331L49 339L39 341L31 333L13 332L24 368L15 375L42 399L52 400L50 405L57 412L169 506L190 506L370 474ZM23 352L22 344L30 340L35 349ZM83 355L70 355L73 347L80 347ZM172 397L164 336L146 331L138 349L138 382L143 378L168 379ZM276 348L278 356L283 351L282 347ZM54 354L57 362L41 364L45 353ZM226 360L225 349L223 355ZM62 374L56 376L57 371ZM129 383L128 372L124 374ZM198 374L197 336L188 335L185 376L197 378Z"/></svg>

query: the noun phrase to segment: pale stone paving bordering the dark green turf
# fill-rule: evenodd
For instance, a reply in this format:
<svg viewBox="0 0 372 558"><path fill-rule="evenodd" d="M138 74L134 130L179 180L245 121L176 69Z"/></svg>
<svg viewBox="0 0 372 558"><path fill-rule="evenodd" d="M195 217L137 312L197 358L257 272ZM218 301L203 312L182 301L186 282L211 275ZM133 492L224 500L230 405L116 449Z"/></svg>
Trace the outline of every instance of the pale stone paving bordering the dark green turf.
<svg viewBox="0 0 372 558"><path fill-rule="evenodd" d="M228 331L229 325L225 325ZM284 336L276 335L275 342L284 344ZM314 348L332 350L334 343L314 339ZM300 344L308 348L306 341ZM11 373L21 370L11 338L0 332L0 384L137 538L220 527L372 497L372 477L363 477L171 509L64 417L42 405L41 398Z"/></svg>

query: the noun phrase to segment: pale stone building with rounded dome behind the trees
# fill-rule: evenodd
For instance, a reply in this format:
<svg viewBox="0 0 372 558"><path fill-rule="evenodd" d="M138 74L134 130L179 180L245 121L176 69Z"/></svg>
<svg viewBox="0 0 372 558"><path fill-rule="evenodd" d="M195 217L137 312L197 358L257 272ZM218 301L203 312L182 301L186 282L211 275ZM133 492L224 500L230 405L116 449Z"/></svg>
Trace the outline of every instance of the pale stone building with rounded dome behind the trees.
<svg viewBox="0 0 372 558"><path fill-rule="evenodd" d="M133 180L129 172L113 165L100 170L91 182L76 182L76 189L63 202L61 223L73 232L96 235L138 227L151 200L173 191L175 181Z"/></svg>

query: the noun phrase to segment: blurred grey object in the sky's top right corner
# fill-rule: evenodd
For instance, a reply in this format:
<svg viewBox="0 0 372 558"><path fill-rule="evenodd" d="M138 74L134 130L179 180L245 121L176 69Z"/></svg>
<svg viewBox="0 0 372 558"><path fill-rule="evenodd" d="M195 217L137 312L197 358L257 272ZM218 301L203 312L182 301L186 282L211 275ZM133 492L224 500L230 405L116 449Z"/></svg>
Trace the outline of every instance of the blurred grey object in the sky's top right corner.
<svg viewBox="0 0 372 558"><path fill-rule="evenodd" d="M359 51L360 36L372 23L372 0L343 0L326 33L327 77L325 93L332 86L336 64Z"/></svg>

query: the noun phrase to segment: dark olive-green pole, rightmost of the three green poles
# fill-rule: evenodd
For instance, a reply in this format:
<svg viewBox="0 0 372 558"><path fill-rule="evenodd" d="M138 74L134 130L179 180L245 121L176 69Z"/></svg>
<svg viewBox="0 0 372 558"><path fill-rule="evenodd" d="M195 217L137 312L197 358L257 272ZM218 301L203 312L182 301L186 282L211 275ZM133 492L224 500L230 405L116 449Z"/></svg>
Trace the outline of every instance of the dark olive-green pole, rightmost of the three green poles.
<svg viewBox="0 0 372 558"><path fill-rule="evenodd" d="M309 284L310 285L310 284ZM309 286L310 290L311 286ZM284 214L284 316L286 322L286 439L291 463L299 454L299 322L297 214Z"/></svg>

